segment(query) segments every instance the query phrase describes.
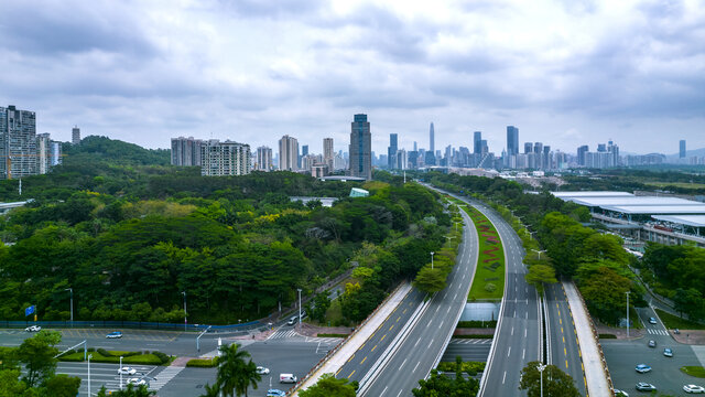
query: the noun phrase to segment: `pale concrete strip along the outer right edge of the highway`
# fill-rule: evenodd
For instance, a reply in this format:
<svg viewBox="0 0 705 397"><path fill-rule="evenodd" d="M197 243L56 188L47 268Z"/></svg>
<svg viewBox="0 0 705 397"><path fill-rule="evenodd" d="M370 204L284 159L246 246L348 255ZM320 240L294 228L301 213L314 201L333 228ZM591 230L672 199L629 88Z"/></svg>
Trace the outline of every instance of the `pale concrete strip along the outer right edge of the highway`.
<svg viewBox="0 0 705 397"><path fill-rule="evenodd" d="M601 350L597 344L597 335L593 332L589 314L583 304L583 299L573 282L563 281L563 288L568 299L581 345L587 393L590 396L610 396L606 365L604 364Z"/></svg>

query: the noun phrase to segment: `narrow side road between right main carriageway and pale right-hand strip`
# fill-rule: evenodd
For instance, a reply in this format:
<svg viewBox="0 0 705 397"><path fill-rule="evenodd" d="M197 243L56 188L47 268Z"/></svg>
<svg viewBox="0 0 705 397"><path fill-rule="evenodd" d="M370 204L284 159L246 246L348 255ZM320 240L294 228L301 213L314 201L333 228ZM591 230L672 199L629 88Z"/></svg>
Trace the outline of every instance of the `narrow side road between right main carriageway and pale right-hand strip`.
<svg viewBox="0 0 705 397"><path fill-rule="evenodd" d="M561 283L545 287L546 313L549 318L549 364L561 368L575 380L581 395L587 395L587 382L583 371L577 333L573 315Z"/></svg>

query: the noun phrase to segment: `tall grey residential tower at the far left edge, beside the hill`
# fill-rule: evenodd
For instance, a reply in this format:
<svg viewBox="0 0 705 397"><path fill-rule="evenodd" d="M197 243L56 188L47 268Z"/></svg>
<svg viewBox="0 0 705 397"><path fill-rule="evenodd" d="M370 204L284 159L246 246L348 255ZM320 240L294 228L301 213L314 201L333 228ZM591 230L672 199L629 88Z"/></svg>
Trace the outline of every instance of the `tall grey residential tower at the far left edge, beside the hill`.
<svg viewBox="0 0 705 397"><path fill-rule="evenodd" d="M36 115L0 107L0 179L36 174Z"/></svg>

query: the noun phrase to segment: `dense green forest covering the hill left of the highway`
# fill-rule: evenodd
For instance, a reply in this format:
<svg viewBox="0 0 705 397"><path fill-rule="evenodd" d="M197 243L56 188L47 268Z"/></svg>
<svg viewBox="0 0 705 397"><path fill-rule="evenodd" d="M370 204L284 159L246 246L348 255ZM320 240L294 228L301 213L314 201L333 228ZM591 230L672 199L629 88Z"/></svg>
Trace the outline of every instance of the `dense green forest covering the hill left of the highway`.
<svg viewBox="0 0 705 397"><path fill-rule="evenodd" d="M84 146L85 144L85 146ZM120 153L129 155L121 157ZM0 183L0 201L32 198L0 217L0 320L259 319L351 267L343 297L360 321L441 248L451 217L414 184L321 182L290 172L203 178L163 151L89 137L46 175ZM350 187L370 191L349 198ZM291 202L290 195L332 196ZM367 269L367 270L365 270ZM360 275L364 275L360 276Z"/></svg>

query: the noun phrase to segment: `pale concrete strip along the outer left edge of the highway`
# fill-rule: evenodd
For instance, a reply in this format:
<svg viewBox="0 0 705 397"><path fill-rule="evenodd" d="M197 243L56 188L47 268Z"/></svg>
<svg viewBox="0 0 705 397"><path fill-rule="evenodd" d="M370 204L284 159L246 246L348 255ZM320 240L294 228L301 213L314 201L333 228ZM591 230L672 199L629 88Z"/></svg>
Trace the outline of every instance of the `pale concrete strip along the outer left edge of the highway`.
<svg viewBox="0 0 705 397"><path fill-rule="evenodd" d="M382 307L377 310L372 316L360 325L355 333L352 333L347 340L343 342L340 347L330 355L325 363L321 364L318 369L306 378L293 396L297 395L299 390L305 390L307 387L315 385L318 378L323 374L335 374L343 367L345 363L355 354L355 352L367 342L367 340L377 331L377 329L387 320L387 318L394 311L406 293L411 291L411 283L406 282L392 294Z"/></svg>

